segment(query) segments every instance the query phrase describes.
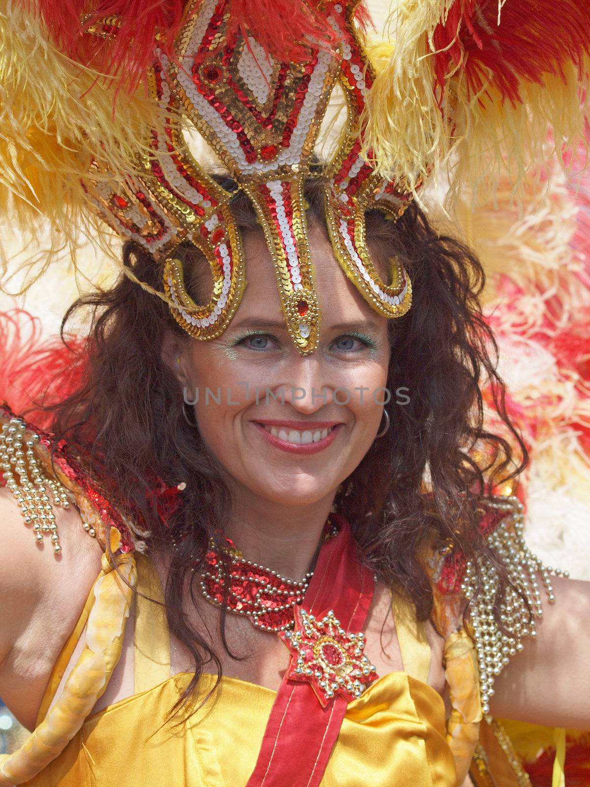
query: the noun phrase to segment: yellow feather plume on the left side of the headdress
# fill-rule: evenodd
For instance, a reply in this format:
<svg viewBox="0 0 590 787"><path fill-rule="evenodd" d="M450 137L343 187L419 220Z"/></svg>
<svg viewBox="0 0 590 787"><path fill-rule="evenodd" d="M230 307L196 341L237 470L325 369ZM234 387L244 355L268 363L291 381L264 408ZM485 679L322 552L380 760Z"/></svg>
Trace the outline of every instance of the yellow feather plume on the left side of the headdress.
<svg viewBox="0 0 590 787"><path fill-rule="evenodd" d="M149 132L166 118L144 88L116 94L116 81L62 54L23 5L0 0L0 213L38 249L24 266L26 290L60 254L76 267L76 249L88 238L120 263L114 234L81 182L89 181L94 159L94 181L124 191L119 173L142 171ZM39 252L47 224L51 246ZM2 259L2 275L8 262Z"/></svg>

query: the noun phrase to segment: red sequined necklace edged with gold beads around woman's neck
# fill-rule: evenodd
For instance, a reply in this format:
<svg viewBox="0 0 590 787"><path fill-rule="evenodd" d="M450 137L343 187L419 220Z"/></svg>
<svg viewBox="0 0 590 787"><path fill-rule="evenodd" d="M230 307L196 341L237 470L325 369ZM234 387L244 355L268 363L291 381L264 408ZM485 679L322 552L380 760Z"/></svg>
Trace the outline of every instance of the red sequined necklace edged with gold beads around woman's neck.
<svg viewBox="0 0 590 787"><path fill-rule="evenodd" d="M328 541L337 532L337 525L328 519L323 530L323 541ZM224 606L236 615L246 615L261 630L293 629L293 607L301 604L313 571L309 571L300 582L282 577L270 568L245 560L234 542L230 538L226 538L226 541L227 546L221 548L225 560L219 556L219 548L215 543L210 542L205 555L206 567L199 577L203 596L216 607ZM226 573L227 566L229 575ZM224 586L227 586L225 600Z"/></svg>

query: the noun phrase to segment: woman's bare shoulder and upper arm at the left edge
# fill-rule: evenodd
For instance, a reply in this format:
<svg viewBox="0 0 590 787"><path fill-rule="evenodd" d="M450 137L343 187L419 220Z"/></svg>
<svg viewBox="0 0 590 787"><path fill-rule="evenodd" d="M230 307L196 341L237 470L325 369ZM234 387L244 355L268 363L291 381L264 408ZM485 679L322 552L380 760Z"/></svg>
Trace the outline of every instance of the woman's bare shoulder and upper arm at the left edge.
<svg viewBox="0 0 590 787"><path fill-rule="evenodd" d="M13 494L0 488L0 696L28 727L101 567L101 545L76 507L53 512L59 554L48 538L36 541Z"/></svg>

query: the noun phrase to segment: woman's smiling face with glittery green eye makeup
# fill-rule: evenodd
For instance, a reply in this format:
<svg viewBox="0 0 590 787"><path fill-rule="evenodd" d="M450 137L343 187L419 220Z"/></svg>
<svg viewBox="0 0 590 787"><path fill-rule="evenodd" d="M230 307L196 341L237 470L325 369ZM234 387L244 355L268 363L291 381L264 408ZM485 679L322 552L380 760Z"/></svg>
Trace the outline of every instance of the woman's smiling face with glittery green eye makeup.
<svg viewBox="0 0 590 787"><path fill-rule="evenodd" d="M348 282L323 229L312 224L309 239L321 309L315 352L303 357L293 345L270 253L249 233L248 286L234 320L176 360L230 484L287 505L322 500L360 464L382 422L389 363L386 318Z"/></svg>

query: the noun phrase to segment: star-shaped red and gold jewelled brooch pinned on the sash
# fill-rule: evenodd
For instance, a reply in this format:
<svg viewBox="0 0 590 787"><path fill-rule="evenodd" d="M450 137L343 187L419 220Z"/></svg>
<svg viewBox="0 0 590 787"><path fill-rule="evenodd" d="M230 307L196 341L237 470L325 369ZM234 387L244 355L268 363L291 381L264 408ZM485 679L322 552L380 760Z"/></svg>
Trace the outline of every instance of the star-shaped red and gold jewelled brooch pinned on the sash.
<svg viewBox="0 0 590 787"><path fill-rule="evenodd" d="M363 632L346 632L331 609L323 618L298 604L294 611L295 630L278 634L291 652L287 678L310 683L323 708L336 694L355 700L377 678Z"/></svg>

